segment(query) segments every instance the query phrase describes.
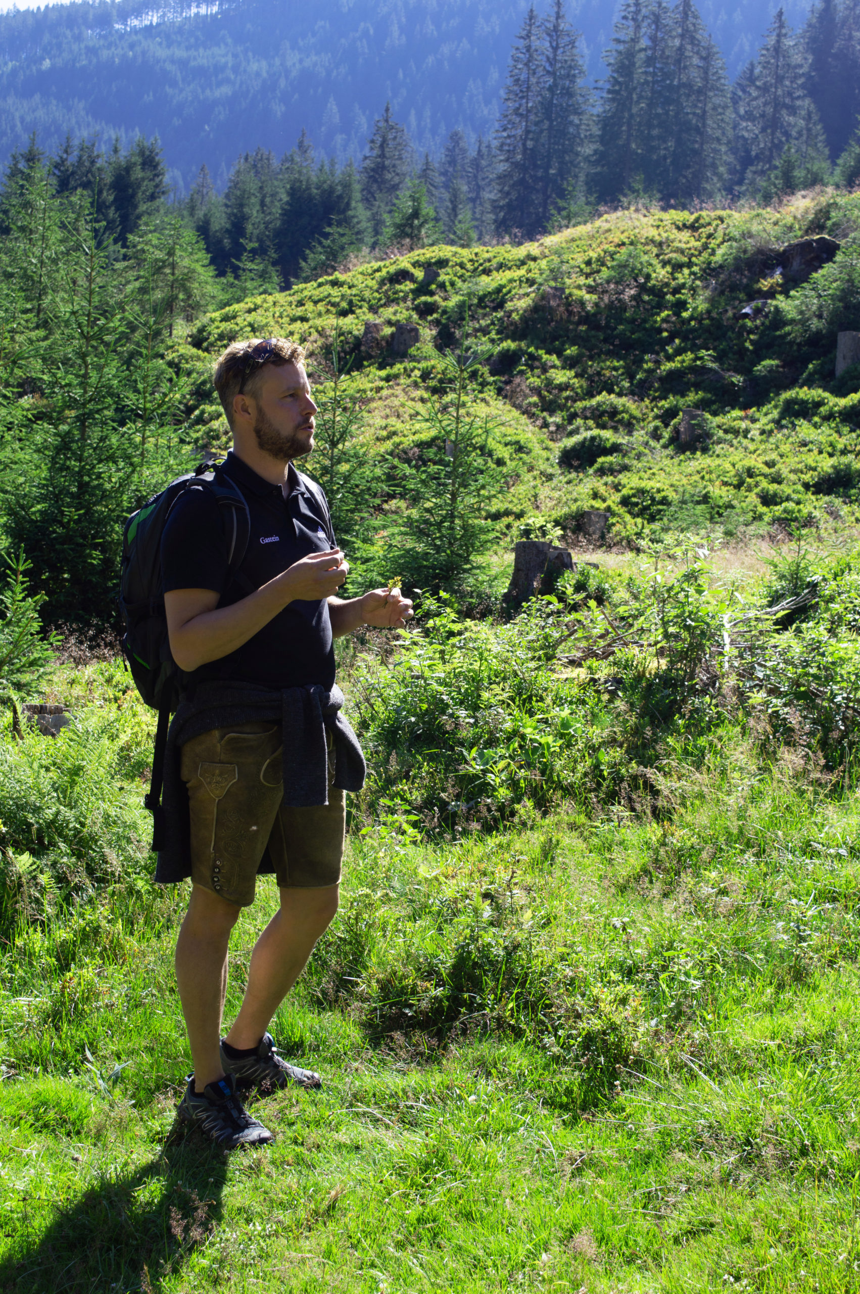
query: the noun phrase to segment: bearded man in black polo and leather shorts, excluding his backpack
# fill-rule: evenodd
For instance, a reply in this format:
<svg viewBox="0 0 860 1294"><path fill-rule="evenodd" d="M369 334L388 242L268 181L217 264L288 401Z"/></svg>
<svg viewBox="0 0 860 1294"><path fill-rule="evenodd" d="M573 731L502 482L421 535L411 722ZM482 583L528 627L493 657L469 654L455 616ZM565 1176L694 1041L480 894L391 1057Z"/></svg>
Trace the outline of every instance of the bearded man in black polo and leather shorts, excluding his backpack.
<svg viewBox="0 0 860 1294"><path fill-rule="evenodd" d="M234 1146L272 1140L241 1090L321 1084L277 1053L268 1026L338 911L344 788L363 783L361 749L338 713L332 638L401 626L413 606L400 590L335 597L349 567L323 492L295 467L313 449L317 411L301 348L282 338L234 343L215 386L233 431L220 470L248 505L250 537L230 576L231 536L206 488L188 489L164 528L167 625L185 686L164 800L176 823L180 788L182 827L169 849L175 859L184 840L185 862L177 871L168 849L156 879L190 872L193 883L176 946L194 1061L180 1117ZM230 930L253 902L259 870L275 872L281 908L256 942L242 1007L221 1039Z"/></svg>

